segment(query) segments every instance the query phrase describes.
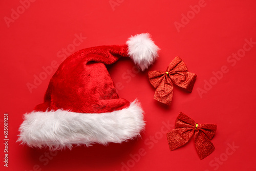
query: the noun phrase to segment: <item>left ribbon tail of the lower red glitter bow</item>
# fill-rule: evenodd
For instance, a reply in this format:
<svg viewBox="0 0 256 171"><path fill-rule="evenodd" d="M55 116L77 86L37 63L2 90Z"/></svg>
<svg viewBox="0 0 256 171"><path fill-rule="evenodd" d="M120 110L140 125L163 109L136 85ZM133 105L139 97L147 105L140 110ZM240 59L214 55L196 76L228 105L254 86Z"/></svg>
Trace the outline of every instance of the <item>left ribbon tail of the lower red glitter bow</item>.
<svg viewBox="0 0 256 171"><path fill-rule="evenodd" d="M174 129L166 134L170 151L185 145L193 136L194 129L182 127Z"/></svg>

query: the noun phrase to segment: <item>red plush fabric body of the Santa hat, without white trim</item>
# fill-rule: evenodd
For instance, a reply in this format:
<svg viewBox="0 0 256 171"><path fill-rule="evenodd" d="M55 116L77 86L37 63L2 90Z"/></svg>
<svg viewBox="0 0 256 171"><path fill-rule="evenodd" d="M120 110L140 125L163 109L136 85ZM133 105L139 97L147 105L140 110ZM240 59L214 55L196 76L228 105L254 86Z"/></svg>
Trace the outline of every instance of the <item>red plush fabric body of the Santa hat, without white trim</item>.
<svg viewBox="0 0 256 171"><path fill-rule="evenodd" d="M130 102L119 98L105 65L129 56L127 45L82 49L61 63L50 80L44 103L35 111L106 113L127 108Z"/></svg>

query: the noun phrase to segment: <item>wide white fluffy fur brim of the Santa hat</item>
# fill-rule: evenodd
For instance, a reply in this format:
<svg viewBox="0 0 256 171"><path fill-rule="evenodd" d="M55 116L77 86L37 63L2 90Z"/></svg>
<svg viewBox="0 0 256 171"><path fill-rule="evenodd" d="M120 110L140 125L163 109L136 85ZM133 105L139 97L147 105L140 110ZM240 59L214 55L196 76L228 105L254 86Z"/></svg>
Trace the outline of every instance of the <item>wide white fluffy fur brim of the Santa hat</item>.
<svg viewBox="0 0 256 171"><path fill-rule="evenodd" d="M135 100L128 108L110 113L74 113L57 110L25 114L18 138L22 144L50 149L72 148L72 144L121 143L144 129L143 110Z"/></svg>

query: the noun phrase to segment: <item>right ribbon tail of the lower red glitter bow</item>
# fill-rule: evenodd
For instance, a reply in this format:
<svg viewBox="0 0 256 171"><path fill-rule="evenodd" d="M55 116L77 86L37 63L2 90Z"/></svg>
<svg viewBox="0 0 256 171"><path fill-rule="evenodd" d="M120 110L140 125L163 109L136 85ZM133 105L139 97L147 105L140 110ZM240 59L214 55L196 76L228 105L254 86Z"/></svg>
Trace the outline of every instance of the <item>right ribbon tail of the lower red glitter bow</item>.
<svg viewBox="0 0 256 171"><path fill-rule="evenodd" d="M215 151L214 144L202 131L196 130L194 139L197 154L201 160Z"/></svg>

